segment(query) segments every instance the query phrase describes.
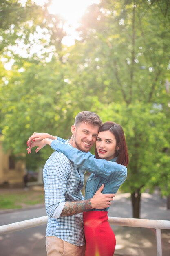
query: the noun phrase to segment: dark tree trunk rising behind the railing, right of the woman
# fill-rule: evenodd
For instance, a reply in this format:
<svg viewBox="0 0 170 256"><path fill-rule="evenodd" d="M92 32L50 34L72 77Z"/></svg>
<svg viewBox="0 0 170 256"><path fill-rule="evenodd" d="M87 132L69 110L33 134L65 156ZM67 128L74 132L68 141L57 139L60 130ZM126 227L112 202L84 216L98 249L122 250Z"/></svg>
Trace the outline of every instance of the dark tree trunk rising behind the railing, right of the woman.
<svg viewBox="0 0 170 256"><path fill-rule="evenodd" d="M134 193L131 193L133 218L140 219L141 208L141 189L137 189Z"/></svg>

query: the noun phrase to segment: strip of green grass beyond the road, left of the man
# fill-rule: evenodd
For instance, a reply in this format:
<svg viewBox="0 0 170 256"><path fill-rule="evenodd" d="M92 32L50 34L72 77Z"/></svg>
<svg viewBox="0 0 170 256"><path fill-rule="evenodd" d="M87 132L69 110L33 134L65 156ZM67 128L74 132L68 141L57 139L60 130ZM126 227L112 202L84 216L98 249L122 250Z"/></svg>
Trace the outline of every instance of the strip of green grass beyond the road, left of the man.
<svg viewBox="0 0 170 256"><path fill-rule="evenodd" d="M29 205L44 203L44 191L0 189L0 210L21 209Z"/></svg>

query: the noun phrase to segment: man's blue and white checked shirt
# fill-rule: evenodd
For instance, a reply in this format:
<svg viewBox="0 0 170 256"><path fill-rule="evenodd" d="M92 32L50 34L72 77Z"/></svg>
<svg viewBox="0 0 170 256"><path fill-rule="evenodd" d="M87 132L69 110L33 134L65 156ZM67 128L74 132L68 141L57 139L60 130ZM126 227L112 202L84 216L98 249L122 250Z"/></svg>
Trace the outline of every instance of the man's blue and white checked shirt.
<svg viewBox="0 0 170 256"><path fill-rule="evenodd" d="M46 236L57 236L77 246L85 244L82 213L60 217L66 201L84 200L81 193L84 173L57 151L46 161L43 169L46 213L49 216Z"/></svg>

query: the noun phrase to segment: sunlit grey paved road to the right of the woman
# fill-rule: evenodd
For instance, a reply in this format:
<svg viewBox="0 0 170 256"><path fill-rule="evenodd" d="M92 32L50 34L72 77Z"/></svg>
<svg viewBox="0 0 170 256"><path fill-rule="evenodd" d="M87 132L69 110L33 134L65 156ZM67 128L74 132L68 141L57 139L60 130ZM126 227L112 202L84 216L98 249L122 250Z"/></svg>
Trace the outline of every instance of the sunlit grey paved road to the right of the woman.
<svg viewBox="0 0 170 256"><path fill-rule="evenodd" d="M130 193L117 194L109 216L132 218ZM166 198L158 191L150 195L142 193L141 218L170 220L170 210L166 208ZM114 256L156 256L156 231L137 227L112 226L116 235ZM170 230L162 230L162 256L170 256Z"/></svg>

